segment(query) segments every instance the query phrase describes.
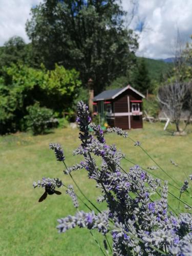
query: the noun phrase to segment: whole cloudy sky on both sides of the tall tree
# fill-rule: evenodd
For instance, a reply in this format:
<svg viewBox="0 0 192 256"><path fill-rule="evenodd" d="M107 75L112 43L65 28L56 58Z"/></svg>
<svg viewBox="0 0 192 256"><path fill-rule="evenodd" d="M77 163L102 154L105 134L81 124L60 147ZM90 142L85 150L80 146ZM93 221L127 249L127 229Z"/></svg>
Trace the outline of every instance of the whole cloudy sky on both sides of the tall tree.
<svg viewBox="0 0 192 256"><path fill-rule="evenodd" d="M130 9L130 1L122 0L125 10ZM29 39L25 23L30 8L40 0L0 0L0 46L13 35ZM192 34L192 0L138 0L132 28L139 28L139 51L137 55L149 58L167 58L174 55L173 47L177 30L183 41Z"/></svg>

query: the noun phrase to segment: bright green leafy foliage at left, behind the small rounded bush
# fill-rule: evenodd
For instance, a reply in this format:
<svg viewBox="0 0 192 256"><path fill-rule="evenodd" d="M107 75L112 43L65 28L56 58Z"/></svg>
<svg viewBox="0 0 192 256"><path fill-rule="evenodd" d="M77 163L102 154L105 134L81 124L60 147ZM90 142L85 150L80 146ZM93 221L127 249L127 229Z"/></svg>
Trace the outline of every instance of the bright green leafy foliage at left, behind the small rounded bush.
<svg viewBox="0 0 192 256"><path fill-rule="evenodd" d="M27 106L36 101L61 116L72 108L80 88L79 74L62 66L48 71L26 65L4 67L0 77L0 133L14 132L23 127Z"/></svg>

